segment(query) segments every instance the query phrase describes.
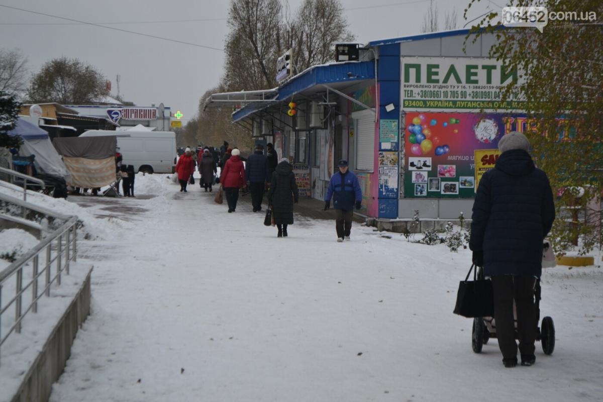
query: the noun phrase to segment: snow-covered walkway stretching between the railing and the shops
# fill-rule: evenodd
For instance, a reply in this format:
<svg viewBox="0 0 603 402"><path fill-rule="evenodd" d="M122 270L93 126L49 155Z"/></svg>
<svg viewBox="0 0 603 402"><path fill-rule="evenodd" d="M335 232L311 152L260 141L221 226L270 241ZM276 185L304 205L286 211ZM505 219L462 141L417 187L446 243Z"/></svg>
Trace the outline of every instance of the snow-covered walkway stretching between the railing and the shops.
<svg viewBox="0 0 603 402"><path fill-rule="evenodd" d="M602 269L546 272L555 353L505 369L452 314L469 251L356 224L337 243L327 221L277 239L263 214L165 181L137 179L157 196L120 200L130 221L82 242L93 311L51 401L603 400Z"/></svg>

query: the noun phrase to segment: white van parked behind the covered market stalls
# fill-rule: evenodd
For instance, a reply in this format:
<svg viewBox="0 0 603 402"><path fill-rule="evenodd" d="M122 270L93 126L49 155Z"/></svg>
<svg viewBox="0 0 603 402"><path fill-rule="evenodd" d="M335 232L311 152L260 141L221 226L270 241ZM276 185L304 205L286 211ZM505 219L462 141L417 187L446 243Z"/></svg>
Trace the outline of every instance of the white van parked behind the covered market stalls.
<svg viewBox="0 0 603 402"><path fill-rule="evenodd" d="M176 134L172 131L88 130L80 137L116 136L122 165L134 172L173 173L176 159Z"/></svg>

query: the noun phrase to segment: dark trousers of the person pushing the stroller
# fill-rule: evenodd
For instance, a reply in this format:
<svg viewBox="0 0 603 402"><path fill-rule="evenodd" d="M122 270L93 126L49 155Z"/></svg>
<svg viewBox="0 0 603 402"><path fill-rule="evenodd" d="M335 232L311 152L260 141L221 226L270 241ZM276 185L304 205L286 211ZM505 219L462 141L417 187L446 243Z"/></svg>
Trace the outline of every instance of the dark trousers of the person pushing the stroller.
<svg viewBox="0 0 603 402"><path fill-rule="evenodd" d="M517 359L513 300L517 311L519 352L534 356L538 315L534 302L536 278L515 275L493 275L494 319L496 338L504 360Z"/></svg>

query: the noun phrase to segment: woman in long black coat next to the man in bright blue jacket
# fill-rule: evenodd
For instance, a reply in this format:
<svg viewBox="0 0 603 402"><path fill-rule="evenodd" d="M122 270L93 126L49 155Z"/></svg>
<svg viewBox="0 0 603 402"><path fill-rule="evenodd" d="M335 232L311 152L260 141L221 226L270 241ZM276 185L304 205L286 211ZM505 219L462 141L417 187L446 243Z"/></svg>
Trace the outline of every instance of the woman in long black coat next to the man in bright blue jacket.
<svg viewBox="0 0 603 402"><path fill-rule="evenodd" d="M277 237L287 237L287 225L293 224L293 203L297 204L299 194L293 166L283 158L274 169L268 192L268 204L272 209L274 223L279 230Z"/></svg>

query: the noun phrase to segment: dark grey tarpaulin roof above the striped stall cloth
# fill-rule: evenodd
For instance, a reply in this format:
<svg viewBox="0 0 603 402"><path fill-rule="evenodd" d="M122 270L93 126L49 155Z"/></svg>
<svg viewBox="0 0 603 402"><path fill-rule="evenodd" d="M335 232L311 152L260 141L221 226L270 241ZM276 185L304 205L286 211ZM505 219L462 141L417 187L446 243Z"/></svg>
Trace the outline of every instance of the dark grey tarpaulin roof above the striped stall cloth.
<svg viewBox="0 0 603 402"><path fill-rule="evenodd" d="M115 136L63 137L52 140L52 145L63 157L105 159L115 157L117 139Z"/></svg>

